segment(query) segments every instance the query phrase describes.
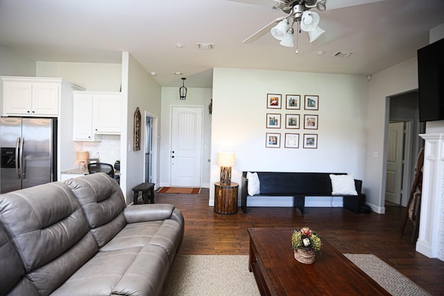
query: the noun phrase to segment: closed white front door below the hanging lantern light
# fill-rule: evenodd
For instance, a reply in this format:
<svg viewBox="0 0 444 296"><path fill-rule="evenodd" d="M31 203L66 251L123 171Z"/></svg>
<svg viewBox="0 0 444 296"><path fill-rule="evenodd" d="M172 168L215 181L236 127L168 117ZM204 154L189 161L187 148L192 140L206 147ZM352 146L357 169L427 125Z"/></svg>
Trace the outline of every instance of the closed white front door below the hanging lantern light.
<svg viewBox="0 0 444 296"><path fill-rule="evenodd" d="M171 186L200 187L202 123L202 107L173 107Z"/></svg>

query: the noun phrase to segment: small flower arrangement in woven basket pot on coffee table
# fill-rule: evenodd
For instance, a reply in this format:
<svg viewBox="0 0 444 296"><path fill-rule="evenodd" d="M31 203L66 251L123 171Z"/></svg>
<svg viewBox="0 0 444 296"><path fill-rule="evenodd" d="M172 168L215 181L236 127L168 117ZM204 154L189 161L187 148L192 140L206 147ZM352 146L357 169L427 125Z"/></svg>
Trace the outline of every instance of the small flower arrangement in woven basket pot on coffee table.
<svg viewBox="0 0 444 296"><path fill-rule="evenodd" d="M315 254L321 253L321 237L309 227L297 228L293 230L291 246L296 260L311 264L314 262Z"/></svg>

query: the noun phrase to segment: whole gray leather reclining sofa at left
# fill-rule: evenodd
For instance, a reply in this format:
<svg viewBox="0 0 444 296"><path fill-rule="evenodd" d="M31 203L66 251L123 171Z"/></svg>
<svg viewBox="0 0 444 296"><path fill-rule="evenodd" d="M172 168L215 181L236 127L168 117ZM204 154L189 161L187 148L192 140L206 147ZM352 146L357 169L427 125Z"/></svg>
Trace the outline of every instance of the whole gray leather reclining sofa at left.
<svg viewBox="0 0 444 296"><path fill-rule="evenodd" d="M161 295L184 226L105 173L0 195L0 295Z"/></svg>

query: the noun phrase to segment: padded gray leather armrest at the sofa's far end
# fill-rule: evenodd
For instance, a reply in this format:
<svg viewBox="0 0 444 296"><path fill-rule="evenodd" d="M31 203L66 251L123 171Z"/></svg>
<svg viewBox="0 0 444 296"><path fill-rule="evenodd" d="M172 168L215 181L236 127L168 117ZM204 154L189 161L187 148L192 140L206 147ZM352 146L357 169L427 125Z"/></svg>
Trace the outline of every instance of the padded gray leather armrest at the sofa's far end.
<svg viewBox="0 0 444 296"><path fill-rule="evenodd" d="M173 204L137 204L123 209L127 223L173 219L183 225L183 216Z"/></svg>

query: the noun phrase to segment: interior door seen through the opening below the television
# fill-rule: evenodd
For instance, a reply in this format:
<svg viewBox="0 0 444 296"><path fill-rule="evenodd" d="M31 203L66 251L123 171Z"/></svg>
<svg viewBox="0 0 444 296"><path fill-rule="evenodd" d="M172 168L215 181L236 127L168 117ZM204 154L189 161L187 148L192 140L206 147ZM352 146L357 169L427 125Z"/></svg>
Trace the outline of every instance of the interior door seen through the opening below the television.
<svg viewBox="0 0 444 296"><path fill-rule="evenodd" d="M404 150L404 123L388 124L388 153L386 170L386 200L401 204L402 153Z"/></svg>

